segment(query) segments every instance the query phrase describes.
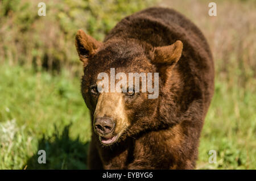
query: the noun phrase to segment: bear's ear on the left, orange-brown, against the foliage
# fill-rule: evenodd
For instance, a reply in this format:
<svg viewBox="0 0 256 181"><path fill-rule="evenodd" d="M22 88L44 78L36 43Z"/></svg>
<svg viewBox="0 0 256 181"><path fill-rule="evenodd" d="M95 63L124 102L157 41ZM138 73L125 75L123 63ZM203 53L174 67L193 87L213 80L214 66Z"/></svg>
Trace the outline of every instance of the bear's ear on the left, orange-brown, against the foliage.
<svg viewBox="0 0 256 181"><path fill-rule="evenodd" d="M79 58L84 63L84 66L86 66L88 64L88 58L92 57L97 52L97 49L101 47L102 43L86 35L84 31L79 30L76 34L75 44Z"/></svg>

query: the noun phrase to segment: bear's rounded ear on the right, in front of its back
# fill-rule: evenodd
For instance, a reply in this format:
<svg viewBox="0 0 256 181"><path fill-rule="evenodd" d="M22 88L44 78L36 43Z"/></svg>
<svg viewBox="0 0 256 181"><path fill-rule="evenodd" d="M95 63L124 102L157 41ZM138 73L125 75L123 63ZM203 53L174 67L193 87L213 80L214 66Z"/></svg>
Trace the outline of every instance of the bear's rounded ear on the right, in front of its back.
<svg viewBox="0 0 256 181"><path fill-rule="evenodd" d="M158 69L159 75L163 79L163 83L170 77L170 69L172 69L180 60L182 49L183 43L180 40L175 41L174 44L156 47L154 49L154 55L151 62Z"/></svg>

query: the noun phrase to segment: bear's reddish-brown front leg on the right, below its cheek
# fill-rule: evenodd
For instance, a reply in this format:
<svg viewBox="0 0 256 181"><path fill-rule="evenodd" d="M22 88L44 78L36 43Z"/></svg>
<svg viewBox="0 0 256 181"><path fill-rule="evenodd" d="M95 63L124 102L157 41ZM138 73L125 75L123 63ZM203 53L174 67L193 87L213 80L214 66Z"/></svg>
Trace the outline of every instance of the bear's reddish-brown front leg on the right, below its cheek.
<svg viewBox="0 0 256 181"><path fill-rule="evenodd" d="M135 140L134 159L127 169L193 169L195 145L187 138L180 125L144 134Z"/></svg>

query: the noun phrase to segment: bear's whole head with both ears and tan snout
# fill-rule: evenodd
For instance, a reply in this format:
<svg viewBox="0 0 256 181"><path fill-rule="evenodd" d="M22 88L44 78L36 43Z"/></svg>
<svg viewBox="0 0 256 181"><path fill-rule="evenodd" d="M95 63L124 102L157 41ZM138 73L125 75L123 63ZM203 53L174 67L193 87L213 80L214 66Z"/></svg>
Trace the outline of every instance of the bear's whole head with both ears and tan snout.
<svg viewBox="0 0 256 181"><path fill-rule="evenodd" d="M181 56L181 41L164 47L134 39L101 43L79 30L76 48L84 65L82 96L102 144L160 127L160 97Z"/></svg>

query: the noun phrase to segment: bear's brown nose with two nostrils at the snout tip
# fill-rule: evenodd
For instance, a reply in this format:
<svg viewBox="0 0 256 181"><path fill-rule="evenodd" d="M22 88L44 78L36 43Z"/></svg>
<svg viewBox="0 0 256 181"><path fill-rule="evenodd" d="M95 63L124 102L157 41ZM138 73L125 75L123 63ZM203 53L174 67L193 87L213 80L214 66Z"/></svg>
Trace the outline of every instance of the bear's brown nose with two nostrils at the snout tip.
<svg viewBox="0 0 256 181"><path fill-rule="evenodd" d="M98 133L108 134L114 131L114 121L109 117L96 117L94 127Z"/></svg>

